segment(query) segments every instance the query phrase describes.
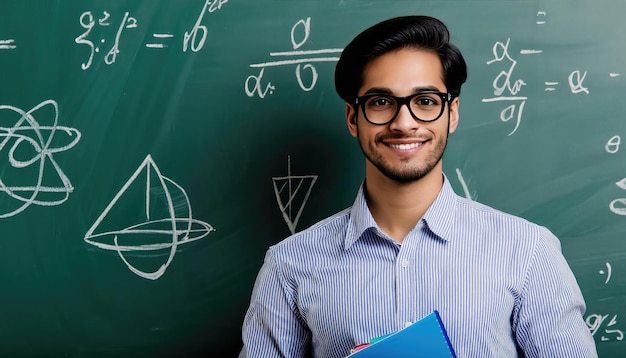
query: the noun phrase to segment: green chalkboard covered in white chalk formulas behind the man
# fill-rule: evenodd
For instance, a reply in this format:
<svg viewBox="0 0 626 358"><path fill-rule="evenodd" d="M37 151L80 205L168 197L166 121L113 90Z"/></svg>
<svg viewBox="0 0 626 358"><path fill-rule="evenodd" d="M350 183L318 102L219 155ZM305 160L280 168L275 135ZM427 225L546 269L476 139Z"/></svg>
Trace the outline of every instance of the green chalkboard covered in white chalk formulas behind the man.
<svg viewBox="0 0 626 358"><path fill-rule="evenodd" d="M444 20L469 80L444 170L561 239L626 352L621 0L3 1L0 357L229 357L273 243L349 206L334 65Z"/></svg>

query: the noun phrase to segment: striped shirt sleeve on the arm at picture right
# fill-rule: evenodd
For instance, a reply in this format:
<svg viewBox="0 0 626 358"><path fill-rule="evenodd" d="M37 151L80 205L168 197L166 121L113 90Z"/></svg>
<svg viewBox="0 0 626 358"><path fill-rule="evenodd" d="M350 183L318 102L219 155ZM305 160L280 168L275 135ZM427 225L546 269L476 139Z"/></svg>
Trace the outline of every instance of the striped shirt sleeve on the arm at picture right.
<svg viewBox="0 0 626 358"><path fill-rule="evenodd" d="M543 228L513 323L526 357L597 357L585 301L558 239Z"/></svg>

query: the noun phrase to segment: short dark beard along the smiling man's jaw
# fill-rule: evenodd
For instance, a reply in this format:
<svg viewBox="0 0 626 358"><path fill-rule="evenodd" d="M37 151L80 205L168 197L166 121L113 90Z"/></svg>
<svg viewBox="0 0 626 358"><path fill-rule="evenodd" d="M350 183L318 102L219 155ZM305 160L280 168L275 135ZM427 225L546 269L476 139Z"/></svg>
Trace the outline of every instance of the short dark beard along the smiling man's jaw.
<svg viewBox="0 0 626 358"><path fill-rule="evenodd" d="M430 173L443 158L443 153L445 152L448 142L448 134L446 134L445 137L441 137L437 139L435 143L432 143L432 148L428 153L426 153L426 158L421 163L411 165L410 162L413 158L403 157L400 158L400 161L406 165L399 166L390 163L376 148L376 145L381 143L383 139L390 137L398 138L398 136L381 135L376 137L374 142L364 143L359 139L359 144L361 146L361 151L367 160L369 160L387 178L398 183L418 181Z"/></svg>

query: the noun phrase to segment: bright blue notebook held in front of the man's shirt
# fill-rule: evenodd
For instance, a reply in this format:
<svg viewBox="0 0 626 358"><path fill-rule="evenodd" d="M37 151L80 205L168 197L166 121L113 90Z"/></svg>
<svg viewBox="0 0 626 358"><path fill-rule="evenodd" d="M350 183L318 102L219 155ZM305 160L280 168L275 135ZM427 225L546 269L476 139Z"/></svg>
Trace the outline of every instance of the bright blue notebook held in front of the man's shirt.
<svg viewBox="0 0 626 358"><path fill-rule="evenodd" d="M362 348L349 358L456 358L437 311Z"/></svg>

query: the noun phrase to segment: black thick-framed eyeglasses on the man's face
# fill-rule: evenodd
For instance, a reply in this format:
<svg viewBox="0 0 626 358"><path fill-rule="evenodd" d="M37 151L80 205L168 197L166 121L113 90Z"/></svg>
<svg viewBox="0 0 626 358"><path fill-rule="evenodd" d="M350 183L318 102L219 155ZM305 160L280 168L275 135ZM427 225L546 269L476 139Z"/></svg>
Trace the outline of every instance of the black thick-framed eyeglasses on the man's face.
<svg viewBox="0 0 626 358"><path fill-rule="evenodd" d="M411 116L422 122L436 121L443 114L446 103L452 101L451 93L438 91L422 91L406 97L390 94L366 94L357 97L354 103L361 106L365 119L383 125L392 122L400 113L402 105L407 106Z"/></svg>

